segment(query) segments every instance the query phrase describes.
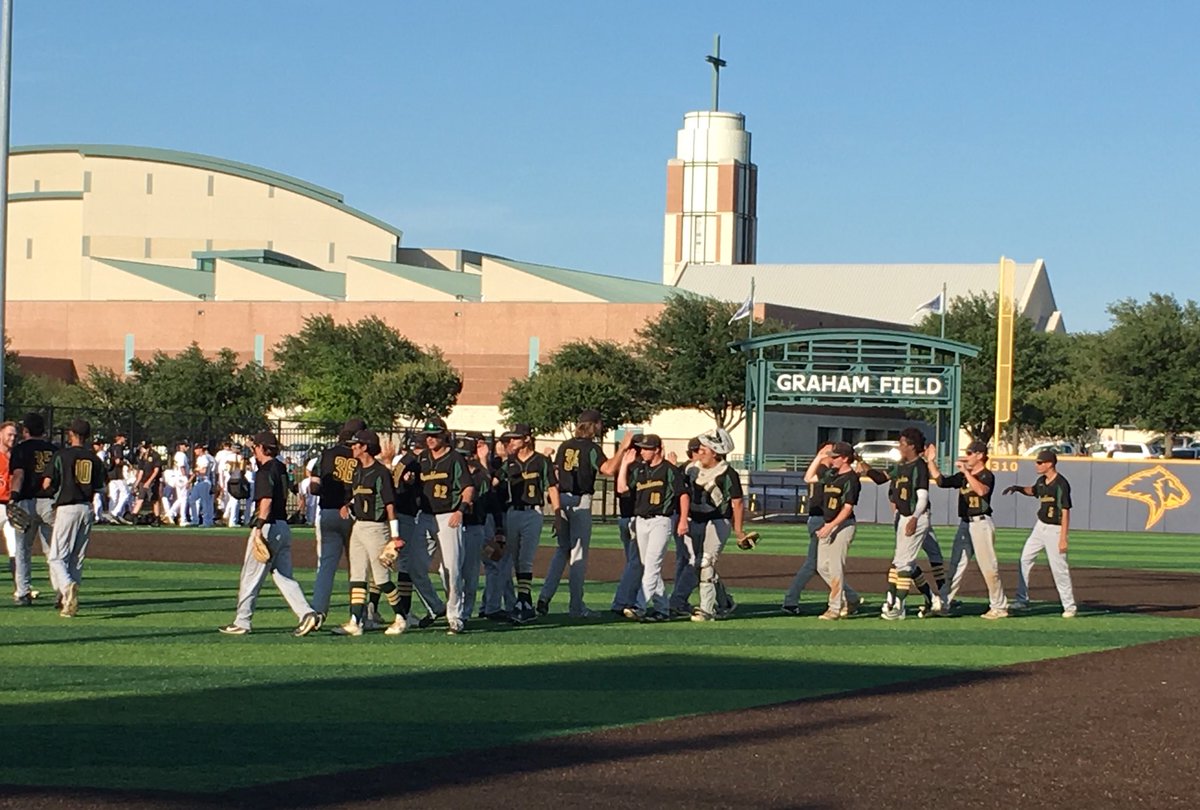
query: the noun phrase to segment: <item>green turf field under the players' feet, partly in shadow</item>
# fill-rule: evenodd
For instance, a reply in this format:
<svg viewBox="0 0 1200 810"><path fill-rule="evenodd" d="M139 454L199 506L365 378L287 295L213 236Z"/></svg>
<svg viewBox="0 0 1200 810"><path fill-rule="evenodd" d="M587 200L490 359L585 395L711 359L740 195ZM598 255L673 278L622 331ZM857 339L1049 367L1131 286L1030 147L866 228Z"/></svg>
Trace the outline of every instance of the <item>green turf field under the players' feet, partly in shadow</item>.
<svg viewBox="0 0 1200 810"><path fill-rule="evenodd" d="M887 532L863 528L853 553L887 557ZM614 528L596 534L616 545ZM800 551L800 536L770 528L762 548ZM1022 539L1003 534L1006 560ZM1072 562L1195 571L1198 548L1198 536L1079 533ZM312 572L300 576L308 590ZM1064 622L1056 606L1000 623L822 623L779 614L775 592L737 589L736 617L709 625L552 614L458 637L296 640L268 586L254 634L222 636L235 590L232 566L90 560L77 618L0 607L0 784L218 791L1200 635L1194 619ZM595 583L589 601L611 594Z"/></svg>

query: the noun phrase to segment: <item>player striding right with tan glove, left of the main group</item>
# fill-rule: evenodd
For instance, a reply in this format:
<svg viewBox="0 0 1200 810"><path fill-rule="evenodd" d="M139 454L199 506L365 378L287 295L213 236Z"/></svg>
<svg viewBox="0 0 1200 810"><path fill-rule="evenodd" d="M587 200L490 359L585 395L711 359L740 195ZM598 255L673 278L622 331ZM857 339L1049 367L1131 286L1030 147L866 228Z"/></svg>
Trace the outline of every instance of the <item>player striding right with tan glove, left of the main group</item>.
<svg viewBox="0 0 1200 810"><path fill-rule="evenodd" d="M230 636L245 636L250 632L254 617L254 602L263 588L266 575L275 580L288 607L300 619L292 632L294 636L307 636L320 624L320 617L305 599L300 583L292 575L292 527L288 526L288 470L278 460L280 440L275 433L263 431L252 440L254 458L258 461L258 473L254 475L253 517L251 518L250 538L246 540L246 556L241 563L241 578L238 582L238 614L233 623L218 630ZM259 562L256 544L265 544L269 552L268 562Z"/></svg>

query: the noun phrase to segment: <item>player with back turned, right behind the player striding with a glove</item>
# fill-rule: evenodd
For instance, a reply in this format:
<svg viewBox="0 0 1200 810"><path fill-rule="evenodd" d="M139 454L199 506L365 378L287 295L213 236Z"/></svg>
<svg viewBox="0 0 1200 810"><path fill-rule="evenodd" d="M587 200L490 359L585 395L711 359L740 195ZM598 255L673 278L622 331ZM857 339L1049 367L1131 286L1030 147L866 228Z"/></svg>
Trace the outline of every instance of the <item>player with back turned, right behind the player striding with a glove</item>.
<svg viewBox="0 0 1200 810"><path fill-rule="evenodd" d="M310 470L310 492L318 497L317 512L317 578L312 586L312 608L320 613L322 623L329 614L334 580L342 564L342 553L350 546L350 520L342 508L350 500L350 481L358 460L350 451L350 439L366 430L361 419L348 419L337 433L337 444L320 451L317 466Z"/></svg>

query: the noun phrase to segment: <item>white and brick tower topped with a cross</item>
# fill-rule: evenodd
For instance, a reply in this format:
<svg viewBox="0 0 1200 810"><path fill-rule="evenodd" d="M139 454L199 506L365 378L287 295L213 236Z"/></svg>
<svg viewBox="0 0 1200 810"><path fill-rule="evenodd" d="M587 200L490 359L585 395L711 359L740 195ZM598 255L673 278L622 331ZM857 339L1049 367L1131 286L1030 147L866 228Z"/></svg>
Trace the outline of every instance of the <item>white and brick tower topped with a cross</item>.
<svg viewBox="0 0 1200 810"><path fill-rule="evenodd" d="M720 37L713 65L713 109L688 113L667 161L662 283L674 284L685 263L754 264L757 244L758 167L750 162L750 133L740 113L718 112Z"/></svg>

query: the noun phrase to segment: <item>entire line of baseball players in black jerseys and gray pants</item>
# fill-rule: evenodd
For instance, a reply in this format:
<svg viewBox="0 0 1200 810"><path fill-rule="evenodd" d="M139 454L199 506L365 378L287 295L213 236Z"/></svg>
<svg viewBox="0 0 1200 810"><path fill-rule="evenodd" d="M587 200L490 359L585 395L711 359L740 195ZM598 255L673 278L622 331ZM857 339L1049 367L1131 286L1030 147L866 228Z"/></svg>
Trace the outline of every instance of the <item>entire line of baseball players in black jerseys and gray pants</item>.
<svg viewBox="0 0 1200 810"><path fill-rule="evenodd" d="M112 466L85 446L91 436L85 420L71 422L62 449L46 440L44 422L36 413L25 418L22 434L18 443L17 426L0 425L0 521L13 599L17 605L30 605L38 595L31 587L30 556L34 539L41 538L55 605L61 616L73 617L94 500L104 491ZM653 434L626 434L610 458L598 443L602 434L600 414L584 410L574 437L551 460L535 451L527 425L515 425L493 446L482 434L469 433L455 442L442 419L431 419L397 452L385 448L362 420L347 421L337 443L310 467L308 490L318 498L317 575L310 601L293 571L288 469L278 458L276 436L258 433L252 439L257 474L248 498L251 533L236 613L221 632L251 632L254 605L268 576L299 619L294 635L318 630L326 623L343 556L349 568L349 611L332 628L341 636L361 636L373 629L400 635L443 619L446 632L457 635L475 616L529 624L550 612L564 572L568 614L595 617L584 601L584 582L599 475L616 479L625 552L610 610L647 623L727 617L737 604L718 572L721 553L731 536L743 548L752 548L757 539L757 533L745 530L742 480L726 461L733 450L728 433L716 428L696 437L682 463L665 455L662 440ZM821 448L805 473L811 487L808 557L784 596L784 612L800 613L800 593L815 574L829 588L821 619L846 618L862 607L862 596L846 582L846 557L854 539L854 506L866 479L888 485L894 509L895 554L881 607L883 619L904 619L913 592L922 596L917 616L952 612L971 557L988 586L989 610L983 618L1006 618L1009 611L1027 606L1030 571L1043 550L1062 614L1075 616L1067 565L1070 486L1057 473L1052 451L1037 456L1040 475L1033 485L1004 491L1039 500L1037 523L1021 553L1016 595L1009 601L995 551L995 478L988 470L986 445L971 443L953 474L937 468L936 450L925 445L919 430L901 431L899 446L901 460L890 475L856 461L846 443ZM144 464L150 470L155 466L152 458ZM959 492L960 524L949 575L930 521L931 485ZM154 498L142 490L139 499ZM534 558L547 505L556 548L535 596ZM668 594L662 565L672 542L676 571ZM918 562L922 554L929 563L929 578ZM430 576L436 558L440 593ZM692 595L697 596L695 606ZM390 622L383 620L383 601Z"/></svg>

